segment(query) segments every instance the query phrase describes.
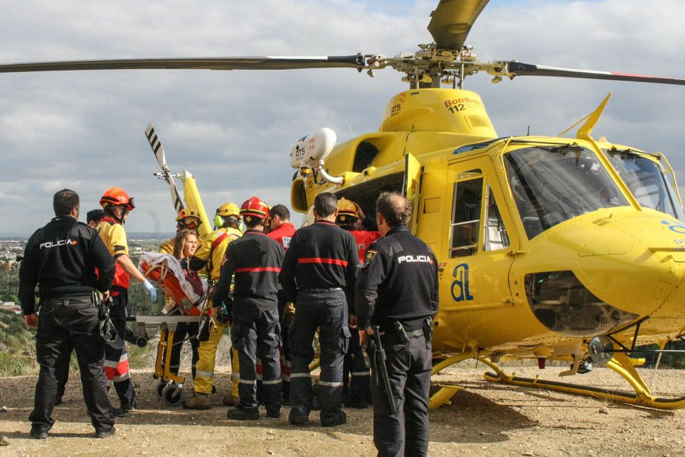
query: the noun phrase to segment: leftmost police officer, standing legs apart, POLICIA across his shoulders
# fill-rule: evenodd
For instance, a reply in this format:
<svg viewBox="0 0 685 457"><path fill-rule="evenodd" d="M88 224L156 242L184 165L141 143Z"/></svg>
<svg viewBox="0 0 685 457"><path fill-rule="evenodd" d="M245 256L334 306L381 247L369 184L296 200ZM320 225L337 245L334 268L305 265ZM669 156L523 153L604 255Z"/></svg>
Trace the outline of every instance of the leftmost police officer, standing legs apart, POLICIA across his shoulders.
<svg viewBox="0 0 685 457"><path fill-rule="evenodd" d="M58 367L69 363L71 346L81 371L84 400L98 438L114 434L112 404L103 365L105 341L99 334L93 291L108 297L114 259L97 232L79 223L79 196L62 189L53 197L55 218L29 238L19 269L19 299L24 321L37 328L36 383L31 436L45 439L54 421ZM97 274L95 272L97 269ZM34 291L39 288L40 312Z"/></svg>

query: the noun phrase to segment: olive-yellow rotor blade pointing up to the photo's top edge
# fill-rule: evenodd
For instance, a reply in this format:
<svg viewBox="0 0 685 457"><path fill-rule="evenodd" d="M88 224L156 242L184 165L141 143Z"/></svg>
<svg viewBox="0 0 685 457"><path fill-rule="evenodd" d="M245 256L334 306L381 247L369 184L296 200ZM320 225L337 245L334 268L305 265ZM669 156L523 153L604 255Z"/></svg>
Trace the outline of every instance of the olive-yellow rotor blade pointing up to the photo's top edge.
<svg viewBox="0 0 685 457"><path fill-rule="evenodd" d="M440 49L460 51L488 0L440 0L430 14L428 32Z"/></svg>

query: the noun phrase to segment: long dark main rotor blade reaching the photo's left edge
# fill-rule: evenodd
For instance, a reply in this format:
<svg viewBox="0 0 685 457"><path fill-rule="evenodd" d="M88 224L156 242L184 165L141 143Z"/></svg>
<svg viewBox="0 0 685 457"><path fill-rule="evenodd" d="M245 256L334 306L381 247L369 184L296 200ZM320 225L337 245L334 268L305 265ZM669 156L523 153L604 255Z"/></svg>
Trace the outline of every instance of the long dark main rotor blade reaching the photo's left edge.
<svg viewBox="0 0 685 457"><path fill-rule="evenodd" d="M26 62L0 64L0 73L32 71L77 70L295 70L321 68L357 68L364 66L364 55L334 55L321 57L208 57L208 58L154 58L110 60L65 60L62 62Z"/></svg>

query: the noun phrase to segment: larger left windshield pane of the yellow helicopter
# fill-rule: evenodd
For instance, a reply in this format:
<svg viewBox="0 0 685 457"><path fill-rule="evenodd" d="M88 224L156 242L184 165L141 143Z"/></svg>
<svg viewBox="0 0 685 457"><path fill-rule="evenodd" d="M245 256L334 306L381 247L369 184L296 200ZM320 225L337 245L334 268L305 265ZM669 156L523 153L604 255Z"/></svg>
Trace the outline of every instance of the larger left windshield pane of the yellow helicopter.
<svg viewBox="0 0 685 457"><path fill-rule="evenodd" d="M529 239L581 214L628 205L595 153L584 147L515 149L505 162Z"/></svg>

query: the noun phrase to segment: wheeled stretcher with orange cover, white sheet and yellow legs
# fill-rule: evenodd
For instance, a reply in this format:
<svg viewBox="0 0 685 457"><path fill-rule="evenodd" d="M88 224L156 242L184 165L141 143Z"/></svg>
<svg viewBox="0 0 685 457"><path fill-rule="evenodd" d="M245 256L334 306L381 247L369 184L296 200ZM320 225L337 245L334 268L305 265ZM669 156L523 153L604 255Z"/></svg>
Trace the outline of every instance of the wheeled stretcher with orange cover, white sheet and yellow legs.
<svg viewBox="0 0 685 457"><path fill-rule="evenodd" d="M183 401L186 378L169 370L174 334L179 323L199 323L207 303L207 293L199 293L198 284L192 284L186 279L179 261L169 254L142 254L138 270L151 282L158 284L169 303L164 306L161 316L129 318L137 325L134 339L136 345L145 346L149 339L147 330L160 329L160 342L155 360L155 378L160 379L160 384L156 388L156 393L167 406L178 406ZM201 288L203 291L207 290L206 282L202 282ZM169 314L175 310L180 310L181 314Z"/></svg>

